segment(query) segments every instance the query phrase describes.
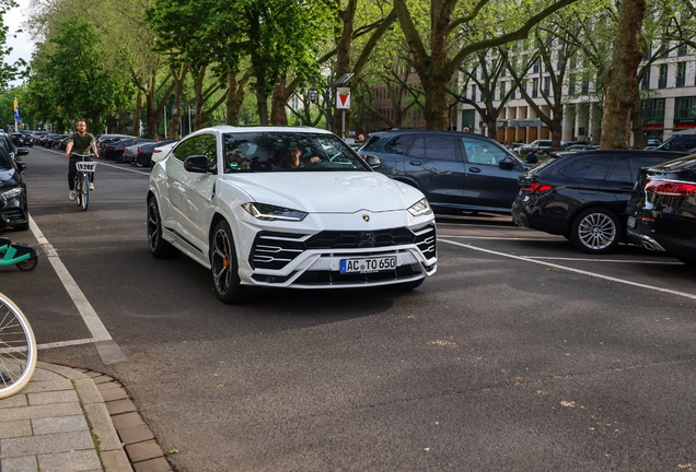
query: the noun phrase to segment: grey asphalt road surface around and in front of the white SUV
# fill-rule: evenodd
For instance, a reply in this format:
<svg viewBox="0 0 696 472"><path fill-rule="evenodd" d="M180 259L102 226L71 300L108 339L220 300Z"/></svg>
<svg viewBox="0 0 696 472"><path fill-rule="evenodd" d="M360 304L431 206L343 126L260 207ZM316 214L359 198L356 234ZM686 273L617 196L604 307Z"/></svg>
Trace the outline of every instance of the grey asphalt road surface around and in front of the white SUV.
<svg viewBox="0 0 696 472"><path fill-rule="evenodd" d="M181 471L696 469L696 274L673 258L440 219L438 273L411 293L231 307L202 267L149 255L147 170L102 162L82 212L65 156L24 162L35 227L127 362L90 341L47 246L0 291L39 361L116 377Z"/></svg>

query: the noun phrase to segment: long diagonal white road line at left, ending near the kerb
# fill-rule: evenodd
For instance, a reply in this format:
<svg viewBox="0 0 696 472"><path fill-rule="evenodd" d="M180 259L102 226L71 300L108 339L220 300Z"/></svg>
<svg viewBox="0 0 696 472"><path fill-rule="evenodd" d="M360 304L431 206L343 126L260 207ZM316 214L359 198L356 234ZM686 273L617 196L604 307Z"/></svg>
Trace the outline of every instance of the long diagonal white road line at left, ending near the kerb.
<svg viewBox="0 0 696 472"><path fill-rule="evenodd" d="M62 282L62 285L66 287L68 295L72 299L72 303L78 308L84 324L90 330L92 334L92 342L96 344L96 349L102 356L102 361L105 364L114 364L116 362L125 362L126 356L120 351L120 349L114 342L114 339L104 327L104 323L100 319L98 315L92 308L92 305L84 296L84 293L80 290L78 283L72 279L70 272L62 263L56 249L48 243L48 239L44 236L42 231L36 225L34 219L30 215L30 228L32 233L34 233L34 237L44 249L44 253L48 258L48 262L53 266L56 274L58 274L58 279Z"/></svg>

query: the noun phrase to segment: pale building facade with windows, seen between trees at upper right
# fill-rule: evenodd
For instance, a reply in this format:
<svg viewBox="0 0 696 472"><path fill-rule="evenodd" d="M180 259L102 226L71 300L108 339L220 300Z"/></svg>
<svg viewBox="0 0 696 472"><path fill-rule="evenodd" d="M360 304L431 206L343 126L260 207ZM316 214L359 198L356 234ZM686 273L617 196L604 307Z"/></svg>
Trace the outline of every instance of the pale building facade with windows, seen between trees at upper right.
<svg viewBox="0 0 696 472"><path fill-rule="evenodd" d="M650 57L646 52L646 59ZM601 135L602 101L594 94L594 80L582 76L581 68L570 64L572 73L567 75L562 86L564 119L562 141L578 141L599 144ZM542 92L550 96L549 73L541 66L534 66L524 78L526 92L535 104L552 116ZM510 74L501 74L496 87L494 105L499 106L501 97L514 87ZM678 47L654 61L649 73L640 83L641 117L643 137L665 141L674 131L696 128L696 54L686 46ZM467 97L483 106L485 96L477 94L476 85L468 85ZM497 99L497 101L496 101ZM460 105L457 129L468 127L472 132L488 135L486 123L472 105ZM496 132L499 142L530 143L537 139L550 139L548 127L540 122L534 109L518 91L512 94L498 117ZM630 143L634 137L630 137Z"/></svg>

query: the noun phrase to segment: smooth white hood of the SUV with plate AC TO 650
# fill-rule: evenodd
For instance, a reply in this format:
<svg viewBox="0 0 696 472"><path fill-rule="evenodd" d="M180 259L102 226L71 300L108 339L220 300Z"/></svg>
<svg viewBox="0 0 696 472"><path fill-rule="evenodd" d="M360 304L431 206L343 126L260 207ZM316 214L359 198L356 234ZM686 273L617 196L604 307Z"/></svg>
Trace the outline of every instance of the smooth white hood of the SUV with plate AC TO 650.
<svg viewBox="0 0 696 472"><path fill-rule="evenodd" d="M310 213L405 210L424 198L413 187L370 172L228 174L224 179L256 202Z"/></svg>

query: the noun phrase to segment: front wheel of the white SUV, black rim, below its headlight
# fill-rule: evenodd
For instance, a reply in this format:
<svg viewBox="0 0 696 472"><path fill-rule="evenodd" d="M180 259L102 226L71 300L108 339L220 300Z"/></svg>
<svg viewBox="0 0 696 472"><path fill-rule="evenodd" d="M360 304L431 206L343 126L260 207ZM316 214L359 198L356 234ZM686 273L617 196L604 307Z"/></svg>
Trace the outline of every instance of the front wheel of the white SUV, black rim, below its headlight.
<svg viewBox="0 0 696 472"><path fill-rule="evenodd" d="M216 225L210 237L210 272L220 298L225 304L237 304L248 299L248 292L240 283L234 239L227 221Z"/></svg>

